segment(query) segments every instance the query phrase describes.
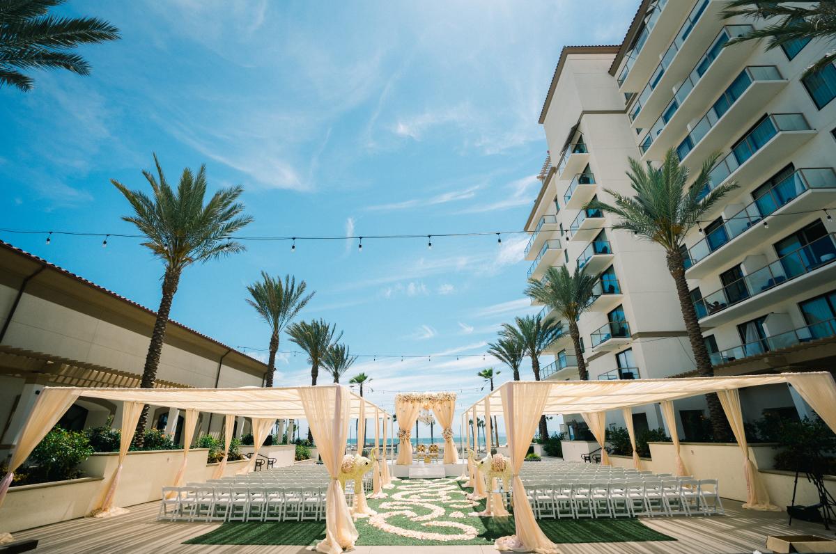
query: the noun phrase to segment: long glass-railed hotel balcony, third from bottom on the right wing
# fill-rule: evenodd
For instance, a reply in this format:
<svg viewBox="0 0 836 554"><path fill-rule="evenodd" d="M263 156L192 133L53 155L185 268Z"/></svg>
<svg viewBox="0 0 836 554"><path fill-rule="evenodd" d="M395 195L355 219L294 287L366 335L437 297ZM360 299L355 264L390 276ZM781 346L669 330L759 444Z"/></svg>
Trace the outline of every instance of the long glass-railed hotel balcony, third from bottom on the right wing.
<svg viewBox="0 0 836 554"><path fill-rule="evenodd" d="M689 279L701 279L732 263L742 252L771 244L797 225L794 217L836 201L836 171L832 168L797 170L764 195L729 217L723 225L688 249ZM768 227L756 225L767 216Z"/></svg>

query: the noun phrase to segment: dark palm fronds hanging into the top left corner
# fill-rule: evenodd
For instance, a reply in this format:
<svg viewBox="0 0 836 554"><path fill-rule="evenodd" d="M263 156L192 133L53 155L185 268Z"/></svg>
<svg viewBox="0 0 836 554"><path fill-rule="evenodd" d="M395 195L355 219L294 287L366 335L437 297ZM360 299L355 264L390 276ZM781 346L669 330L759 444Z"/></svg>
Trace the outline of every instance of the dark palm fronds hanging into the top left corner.
<svg viewBox="0 0 836 554"><path fill-rule="evenodd" d="M0 0L0 87L23 92L34 80L18 69L68 69L89 75L90 64L70 50L85 43L119 38L119 29L99 18L48 15L64 0Z"/></svg>

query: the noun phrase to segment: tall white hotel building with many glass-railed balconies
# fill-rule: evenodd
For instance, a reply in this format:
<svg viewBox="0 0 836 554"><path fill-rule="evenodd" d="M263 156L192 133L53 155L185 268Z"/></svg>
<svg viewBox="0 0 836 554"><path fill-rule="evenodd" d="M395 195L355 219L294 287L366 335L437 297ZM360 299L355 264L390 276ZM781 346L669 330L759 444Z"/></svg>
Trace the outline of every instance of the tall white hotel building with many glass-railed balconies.
<svg viewBox="0 0 836 554"><path fill-rule="evenodd" d="M721 19L724 5L644 0L622 44L560 54L539 120L550 154L526 256L528 277L560 265L600 273L598 296L579 320L589 379L694 371L664 252L582 209L596 196L611 201L608 190L631 196L629 158L659 162L670 148L691 183L712 153L721 156L705 192L729 180L739 186L685 245L716 374L823 370L836 358L836 68L802 79L832 45L724 48L764 24ZM544 378L578 379L568 336L550 351ZM747 419L808 413L787 386L741 396ZM676 409L681 437L699 435L704 404ZM661 426L652 409L635 412L634 422Z"/></svg>

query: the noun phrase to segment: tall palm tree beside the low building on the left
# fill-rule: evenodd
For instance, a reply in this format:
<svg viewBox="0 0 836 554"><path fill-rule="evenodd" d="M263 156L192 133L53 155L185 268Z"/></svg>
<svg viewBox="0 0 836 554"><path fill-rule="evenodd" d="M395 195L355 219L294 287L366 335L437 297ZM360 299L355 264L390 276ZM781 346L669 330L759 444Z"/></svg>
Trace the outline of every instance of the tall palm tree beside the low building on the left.
<svg viewBox="0 0 836 554"><path fill-rule="evenodd" d="M143 389L154 387L162 345L166 339L168 314L171 312L171 302L177 292L181 273L195 262L202 263L243 252L243 245L233 241L230 236L252 221L252 217L242 215L244 206L237 202L243 192L240 186L216 191L206 205L203 204L206 196L206 165L201 165L197 175L189 168L184 169L175 191L169 186L156 155L154 164L156 177L150 171L142 172L151 186L153 196L147 196L142 191L130 191L118 180L110 180L134 209L133 216L123 216L122 219L140 230L146 239L142 246L160 258L166 267L162 277L160 307L157 309L148 354L145 356L145 368L142 370L140 387ZM148 406L145 405L136 425L134 443L137 446L142 445L147 419Z"/></svg>

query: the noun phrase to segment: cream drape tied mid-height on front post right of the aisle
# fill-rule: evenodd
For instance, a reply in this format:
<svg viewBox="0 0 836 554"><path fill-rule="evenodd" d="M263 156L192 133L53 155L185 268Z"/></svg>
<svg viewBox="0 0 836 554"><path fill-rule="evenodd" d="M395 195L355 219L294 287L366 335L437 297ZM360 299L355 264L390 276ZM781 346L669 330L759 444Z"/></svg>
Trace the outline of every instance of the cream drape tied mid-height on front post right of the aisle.
<svg viewBox="0 0 836 554"><path fill-rule="evenodd" d="M543 533L534 519L528 504L525 486L520 480L528 445L534 438L534 430L546 406L548 389L537 385L513 382L502 388L502 414L505 419L505 435L513 468L512 497L514 501L514 532L501 536L494 543L497 550L559 554L558 547Z"/></svg>

